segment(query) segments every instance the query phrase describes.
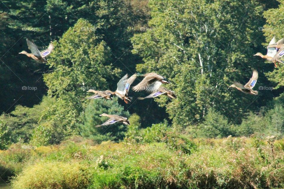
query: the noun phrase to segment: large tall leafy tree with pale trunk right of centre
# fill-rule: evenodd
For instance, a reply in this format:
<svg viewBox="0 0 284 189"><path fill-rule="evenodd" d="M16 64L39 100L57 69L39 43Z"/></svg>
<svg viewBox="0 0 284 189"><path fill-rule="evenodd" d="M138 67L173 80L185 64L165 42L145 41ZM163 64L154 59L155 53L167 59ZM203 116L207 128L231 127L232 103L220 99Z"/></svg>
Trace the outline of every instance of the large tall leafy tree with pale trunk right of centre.
<svg viewBox="0 0 284 189"><path fill-rule="evenodd" d="M149 7L149 28L132 38L133 53L144 62L136 68L158 72L172 81L165 87L174 90L178 98L156 101L166 105L175 126L201 122L211 107L239 124L248 110L256 110L268 100L227 90L235 80L245 84L252 68L263 77L259 68L264 64L254 61L255 49L249 48L261 35L260 4L152 0Z"/></svg>

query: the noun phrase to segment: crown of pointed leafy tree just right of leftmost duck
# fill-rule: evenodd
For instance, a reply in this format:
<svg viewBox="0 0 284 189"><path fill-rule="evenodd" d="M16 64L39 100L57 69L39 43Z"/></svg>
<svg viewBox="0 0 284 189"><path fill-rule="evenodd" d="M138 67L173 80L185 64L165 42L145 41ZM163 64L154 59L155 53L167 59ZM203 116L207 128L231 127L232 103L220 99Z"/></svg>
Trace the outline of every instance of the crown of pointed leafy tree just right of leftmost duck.
<svg viewBox="0 0 284 189"><path fill-rule="evenodd" d="M64 33L49 60L54 71L44 74L49 95L61 97L68 91L83 96L85 88L107 88L108 80L119 73L109 63L109 48L94 35L95 26L79 19Z"/></svg>

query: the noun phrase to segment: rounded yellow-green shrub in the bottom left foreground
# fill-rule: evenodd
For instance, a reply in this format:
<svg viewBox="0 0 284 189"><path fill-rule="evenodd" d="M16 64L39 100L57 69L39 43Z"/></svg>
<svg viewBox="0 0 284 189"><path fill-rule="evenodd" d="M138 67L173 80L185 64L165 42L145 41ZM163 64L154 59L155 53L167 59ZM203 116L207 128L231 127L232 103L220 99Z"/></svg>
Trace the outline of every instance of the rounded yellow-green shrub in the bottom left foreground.
<svg viewBox="0 0 284 189"><path fill-rule="evenodd" d="M87 188L90 168L79 162L40 162L27 167L12 181L15 189Z"/></svg>

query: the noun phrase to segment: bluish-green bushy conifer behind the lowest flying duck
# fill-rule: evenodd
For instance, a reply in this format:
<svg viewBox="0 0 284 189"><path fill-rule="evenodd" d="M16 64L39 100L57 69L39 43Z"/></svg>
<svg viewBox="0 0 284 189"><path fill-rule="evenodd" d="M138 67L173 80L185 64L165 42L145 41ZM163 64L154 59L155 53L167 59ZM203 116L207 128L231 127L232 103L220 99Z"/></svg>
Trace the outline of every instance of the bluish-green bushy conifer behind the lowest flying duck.
<svg viewBox="0 0 284 189"><path fill-rule="evenodd" d="M124 108L118 104L118 98L116 97L113 98L113 100L89 100L85 112L81 115L82 123L78 125L81 135L93 139L97 143L107 140L122 140L127 130L127 126L121 123L95 127L109 119L105 116L99 116L102 113L121 115L126 118L129 117L128 111L124 111Z"/></svg>

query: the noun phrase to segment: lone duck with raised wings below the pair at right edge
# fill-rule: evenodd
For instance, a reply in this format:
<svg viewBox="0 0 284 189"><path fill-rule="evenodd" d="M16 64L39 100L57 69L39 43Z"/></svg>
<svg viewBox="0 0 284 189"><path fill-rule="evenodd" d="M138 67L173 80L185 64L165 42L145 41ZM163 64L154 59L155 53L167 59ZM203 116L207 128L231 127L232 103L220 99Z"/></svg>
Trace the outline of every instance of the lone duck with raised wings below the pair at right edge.
<svg viewBox="0 0 284 189"><path fill-rule="evenodd" d="M256 84L257 78L258 78L258 72L254 69L252 77L249 80L249 82L247 82L247 84L243 85L243 84L240 84L239 82L233 82L234 84L230 85L229 87L234 87L234 88L238 89L239 91L246 93L246 94L257 95L258 91L252 90L252 88Z"/></svg>

